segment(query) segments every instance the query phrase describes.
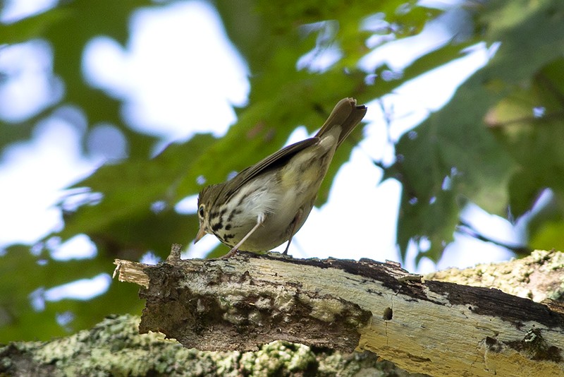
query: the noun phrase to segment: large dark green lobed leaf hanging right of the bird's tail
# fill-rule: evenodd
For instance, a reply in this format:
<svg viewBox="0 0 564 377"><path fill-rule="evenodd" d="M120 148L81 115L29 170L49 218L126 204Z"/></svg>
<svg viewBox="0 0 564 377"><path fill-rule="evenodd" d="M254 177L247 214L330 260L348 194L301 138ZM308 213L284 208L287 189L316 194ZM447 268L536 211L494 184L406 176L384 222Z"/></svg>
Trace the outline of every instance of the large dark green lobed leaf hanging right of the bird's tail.
<svg viewBox="0 0 564 377"><path fill-rule="evenodd" d="M562 64L555 59L560 58L564 41L563 15L564 4L551 1L494 1L478 13L484 39L489 43L501 41L501 47L486 67L458 89L448 105L416 129L417 138L410 138L412 134L401 138L396 150L402 158L386 172L386 176L398 176L407 192L398 222L398 243L404 257L408 241L424 235L431 239L426 255L440 258L455 231L455 217L460 211L457 201L470 200L498 215L505 214L510 204L520 215L547 185L546 180L551 181L548 186L560 189L561 158L557 156L561 153L556 150L556 140L562 137L560 119L550 117L552 125L543 120L545 127L525 126L528 129L522 131L516 131L516 124L503 127L503 131L496 129L497 141L483 120L487 119L489 125L503 124L508 114L532 120L535 106L546 107L549 113L560 112L561 101L535 99L528 88L534 87L535 77L547 64L553 77L559 75ZM515 64L517 61L519 64ZM508 148L501 148L500 143ZM541 150L547 147L555 162L541 162ZM525 161L518 163L520 160ZM441 186L453 168L453 193L446 197L449 203L443 205L439 203L444 191ZM514 175L517 172L519 178ZM539 176L545 181L539 182ZM410 204L413 198L417 198L415 206ZM430 203L431 198L436 201ZM433 210L434 206L439 210ZM430 214L436 217L431 219Z"/></svg>

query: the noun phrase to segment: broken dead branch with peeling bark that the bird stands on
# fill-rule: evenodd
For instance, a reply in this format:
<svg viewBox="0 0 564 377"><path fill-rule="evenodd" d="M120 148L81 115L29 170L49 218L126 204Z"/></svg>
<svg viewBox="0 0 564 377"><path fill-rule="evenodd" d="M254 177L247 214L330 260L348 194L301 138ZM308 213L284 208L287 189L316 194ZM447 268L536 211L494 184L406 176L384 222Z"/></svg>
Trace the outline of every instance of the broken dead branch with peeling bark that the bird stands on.
<svg viewBox="0 0 564 377"><path fill-rule="evenodd" d="M561 253L529 258L551 261L561 284ZM116 263L121 280L129 269L149 277L140 292L147 299L140 330L159 330L186 347L243 351L290 340L369 350L433 376L564 374L558 305L498 289L422 281L369 260L244 254L221 261L175 256L157 266Z"/></svg>

